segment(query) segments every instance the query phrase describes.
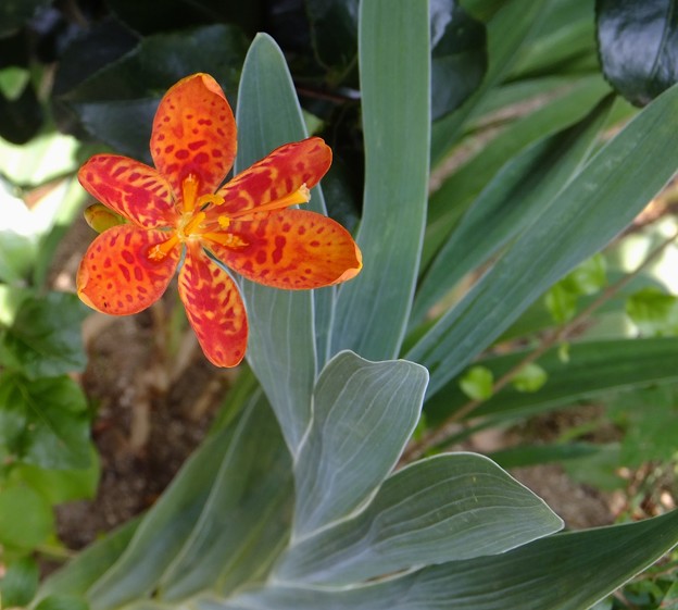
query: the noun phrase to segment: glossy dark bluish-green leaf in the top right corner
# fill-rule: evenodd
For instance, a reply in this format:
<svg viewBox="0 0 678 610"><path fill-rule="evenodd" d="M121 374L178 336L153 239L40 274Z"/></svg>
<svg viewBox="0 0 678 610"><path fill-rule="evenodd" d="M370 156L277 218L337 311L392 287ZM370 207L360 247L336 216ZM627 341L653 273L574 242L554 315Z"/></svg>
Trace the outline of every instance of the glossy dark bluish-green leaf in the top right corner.
<svg viewBox="0 0 678 610"><path fill-rule="evenodd" d="M676 0L597 0L598 43L605 77L644 105L678 82Z"/></svg>

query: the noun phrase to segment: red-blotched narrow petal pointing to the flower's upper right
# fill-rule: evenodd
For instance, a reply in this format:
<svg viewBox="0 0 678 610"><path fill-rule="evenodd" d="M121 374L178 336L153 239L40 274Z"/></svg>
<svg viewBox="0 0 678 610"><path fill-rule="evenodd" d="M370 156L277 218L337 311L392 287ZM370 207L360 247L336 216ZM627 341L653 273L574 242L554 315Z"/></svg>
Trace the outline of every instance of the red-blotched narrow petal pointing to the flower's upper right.
<svg viewBox="0 0 678 610"><path fill-rule="evenodd" d="M224 185L217 195L224 204L209 211L212 216L256 211L262 206L298 190L313 188L331 165L331 149L321 138L286 144Z"/></svg>

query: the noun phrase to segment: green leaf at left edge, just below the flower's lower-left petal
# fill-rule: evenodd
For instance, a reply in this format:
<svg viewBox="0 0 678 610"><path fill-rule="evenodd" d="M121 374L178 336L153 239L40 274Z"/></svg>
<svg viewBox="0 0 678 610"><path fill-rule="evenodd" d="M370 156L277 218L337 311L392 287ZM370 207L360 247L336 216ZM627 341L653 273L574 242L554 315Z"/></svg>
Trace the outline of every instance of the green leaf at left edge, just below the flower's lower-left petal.
<svg viewBox="0 0 678 610"><path fill-rule="evenodd" d="M87 309L75 295L26 299L2 338L0 360L35 379L85 368L80 325Z"/></svg>

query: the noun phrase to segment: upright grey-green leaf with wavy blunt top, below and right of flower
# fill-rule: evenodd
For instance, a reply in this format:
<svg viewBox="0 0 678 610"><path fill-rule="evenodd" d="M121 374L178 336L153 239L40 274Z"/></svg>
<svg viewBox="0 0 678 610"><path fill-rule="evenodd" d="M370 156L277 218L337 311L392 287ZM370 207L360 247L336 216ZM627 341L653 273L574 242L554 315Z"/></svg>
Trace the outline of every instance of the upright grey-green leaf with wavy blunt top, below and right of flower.
<svg viewBox="0 0 678 610"><path fill-rule="evenodd" d="M412 362L352 352L327 364L294 464L296 537L344 519L384 481L414 431L427 379Z"/></svg>

